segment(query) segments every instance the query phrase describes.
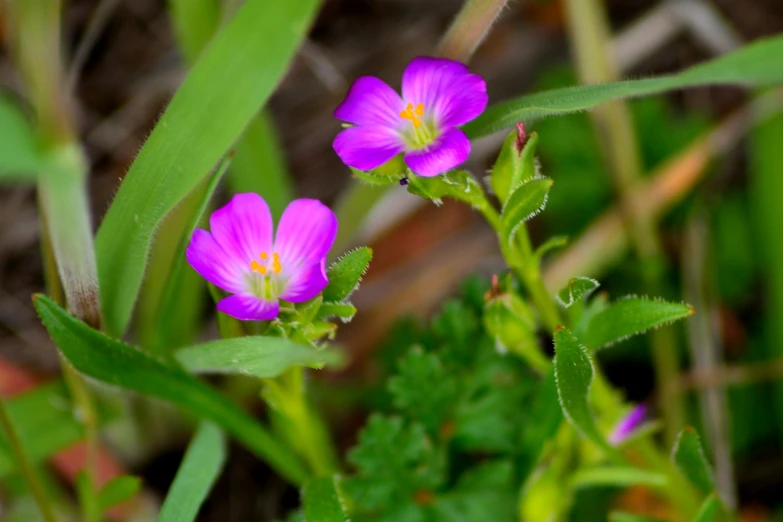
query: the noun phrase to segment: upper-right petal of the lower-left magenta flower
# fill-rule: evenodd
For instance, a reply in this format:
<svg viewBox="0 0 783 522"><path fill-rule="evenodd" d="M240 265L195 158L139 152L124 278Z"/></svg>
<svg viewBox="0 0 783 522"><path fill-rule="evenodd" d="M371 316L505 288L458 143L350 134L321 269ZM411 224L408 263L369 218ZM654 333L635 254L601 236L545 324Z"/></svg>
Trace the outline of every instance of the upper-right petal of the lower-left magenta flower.
<svg viewBox="0 0 783 522"><path fill-rule="evenodd" d="M299 269L320 262L337 236L337 216L317 199L296 199L283 211L275 234L274 251L283 271L297 275Z"/></svg>

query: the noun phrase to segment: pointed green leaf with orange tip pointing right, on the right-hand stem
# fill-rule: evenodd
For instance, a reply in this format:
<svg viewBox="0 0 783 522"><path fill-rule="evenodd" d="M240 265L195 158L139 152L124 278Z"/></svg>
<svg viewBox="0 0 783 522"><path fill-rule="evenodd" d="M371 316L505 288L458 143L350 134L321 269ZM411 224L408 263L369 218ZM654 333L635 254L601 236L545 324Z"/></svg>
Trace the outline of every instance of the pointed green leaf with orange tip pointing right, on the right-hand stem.
<svg viewBox="0 0 783 522"><path fill-rule="evenodd" d="M678 319L693 315L692 306L642 297L628 297L612 303L590 321L585 334L588 348L595 350L624 341Z"/></svg>

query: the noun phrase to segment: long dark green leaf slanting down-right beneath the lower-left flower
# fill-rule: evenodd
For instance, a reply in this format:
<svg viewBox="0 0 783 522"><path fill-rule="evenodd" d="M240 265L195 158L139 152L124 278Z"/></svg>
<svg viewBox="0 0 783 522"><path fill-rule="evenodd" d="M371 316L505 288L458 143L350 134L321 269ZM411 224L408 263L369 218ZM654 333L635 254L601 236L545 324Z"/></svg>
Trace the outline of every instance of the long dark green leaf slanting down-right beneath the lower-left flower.
<svg viewBox="0 0 783 522"><path fill-rule="evenodd" d="M307 476L290 449L198 379L93 330L44 295L36 295L34 302L49 335L80 372L114 386L170 401L196 417L213 421L293 483L301 483Z"/></svg>

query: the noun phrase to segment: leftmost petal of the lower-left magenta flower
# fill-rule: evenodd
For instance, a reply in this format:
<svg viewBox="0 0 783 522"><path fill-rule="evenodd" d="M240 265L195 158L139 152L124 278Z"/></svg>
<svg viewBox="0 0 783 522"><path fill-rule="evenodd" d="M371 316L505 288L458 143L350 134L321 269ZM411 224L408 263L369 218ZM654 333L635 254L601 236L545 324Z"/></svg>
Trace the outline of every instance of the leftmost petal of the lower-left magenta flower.
<svg viewBox="0 0 783 522"><path fill-rule="evenodd" d="M206 230L197 228L193 231L185 258L201 277L218 288L232 293L244 288L243 266L229 256Z"/></svg>

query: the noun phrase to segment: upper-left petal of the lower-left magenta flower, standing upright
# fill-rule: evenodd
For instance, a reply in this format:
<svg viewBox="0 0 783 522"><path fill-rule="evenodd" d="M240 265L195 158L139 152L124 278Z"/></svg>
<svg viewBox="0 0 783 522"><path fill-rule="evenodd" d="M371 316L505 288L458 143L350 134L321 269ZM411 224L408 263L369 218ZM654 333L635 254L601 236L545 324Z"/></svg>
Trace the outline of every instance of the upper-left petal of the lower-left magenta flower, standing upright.
<svg viewBox="0 0 783 522"><path fill-rule="evenodd" d="M272 214L264 198L252 192L236 194L209 218L215 240L229 256L250 266L272 247Z"/></svg>

